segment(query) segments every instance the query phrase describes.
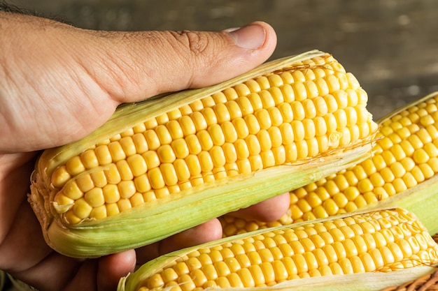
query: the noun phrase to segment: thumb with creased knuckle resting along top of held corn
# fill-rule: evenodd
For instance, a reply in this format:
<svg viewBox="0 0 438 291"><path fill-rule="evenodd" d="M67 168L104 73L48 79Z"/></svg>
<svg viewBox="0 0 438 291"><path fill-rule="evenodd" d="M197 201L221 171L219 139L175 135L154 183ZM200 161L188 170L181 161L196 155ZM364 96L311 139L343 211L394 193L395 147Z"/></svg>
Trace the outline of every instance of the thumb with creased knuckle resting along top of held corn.
<svg viewBox="0 0 438 291"><path fill-rule="evenodd" d="M105 64L94 80L119 103L222 82L262 64L276 46L274 29L264 22L218 32L142 31L109 36L97 32L97 36L106 54L99 53L85 66Z"/></svg>

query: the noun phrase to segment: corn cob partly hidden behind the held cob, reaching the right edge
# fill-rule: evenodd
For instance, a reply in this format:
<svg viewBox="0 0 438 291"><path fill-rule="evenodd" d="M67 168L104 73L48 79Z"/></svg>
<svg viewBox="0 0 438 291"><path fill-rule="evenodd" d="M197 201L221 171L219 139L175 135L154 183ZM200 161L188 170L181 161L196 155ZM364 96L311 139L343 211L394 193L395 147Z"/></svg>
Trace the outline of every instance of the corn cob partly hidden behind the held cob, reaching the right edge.
<svg viewBox="0 0 438 291"><path fill-rule="evenodd" d="M438 179L437 103L438 94L430 94L377 121L372 156L290 191L290 209L280 220L262 223L224 216L224 235L351 212L425 188Z"/></svg>

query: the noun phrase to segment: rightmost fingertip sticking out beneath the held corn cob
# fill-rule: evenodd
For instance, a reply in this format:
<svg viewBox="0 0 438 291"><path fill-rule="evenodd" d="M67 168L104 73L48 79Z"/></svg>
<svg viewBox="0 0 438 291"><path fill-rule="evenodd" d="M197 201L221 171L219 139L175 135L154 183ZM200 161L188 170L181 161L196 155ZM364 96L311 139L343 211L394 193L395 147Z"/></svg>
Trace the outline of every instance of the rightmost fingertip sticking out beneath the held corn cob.
<svg viewBox="0 0 438 291"><path fill-rule="evenodd" d="M271 222L281 218L289 209L290 194L284 193L228 215L256 221Z"/></svg>

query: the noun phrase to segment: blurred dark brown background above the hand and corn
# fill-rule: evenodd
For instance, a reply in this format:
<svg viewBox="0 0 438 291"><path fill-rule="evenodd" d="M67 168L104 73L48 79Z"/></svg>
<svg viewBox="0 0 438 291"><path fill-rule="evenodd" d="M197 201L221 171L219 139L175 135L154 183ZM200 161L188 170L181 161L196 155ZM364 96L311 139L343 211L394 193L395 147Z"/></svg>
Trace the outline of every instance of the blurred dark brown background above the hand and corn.
<svg viewBox="0 0 438 291"><path fill-rule="evenodd" d="M278 34L272 58L330 52L369 95L377 119L438 91L436 0L8 0L76 27L220 30L254 20Z"/></svg>

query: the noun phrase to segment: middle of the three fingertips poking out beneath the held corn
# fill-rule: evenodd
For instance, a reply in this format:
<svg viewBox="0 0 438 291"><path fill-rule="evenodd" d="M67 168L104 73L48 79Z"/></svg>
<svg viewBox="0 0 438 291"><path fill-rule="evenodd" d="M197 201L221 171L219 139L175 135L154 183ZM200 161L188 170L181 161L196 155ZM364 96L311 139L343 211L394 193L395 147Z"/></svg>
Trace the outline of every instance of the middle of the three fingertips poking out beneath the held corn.
<svg viewBox="0 0 438 291"><path fill-rule="evenodd" d="M170 253L171 251L204 244L208 241L220 239L221 237L222 225L220 225L218 219L212 219L211 221L192 227L189 230L174 234L155 244L137 249L137 261L143 264L160 255Z"/></svg>

